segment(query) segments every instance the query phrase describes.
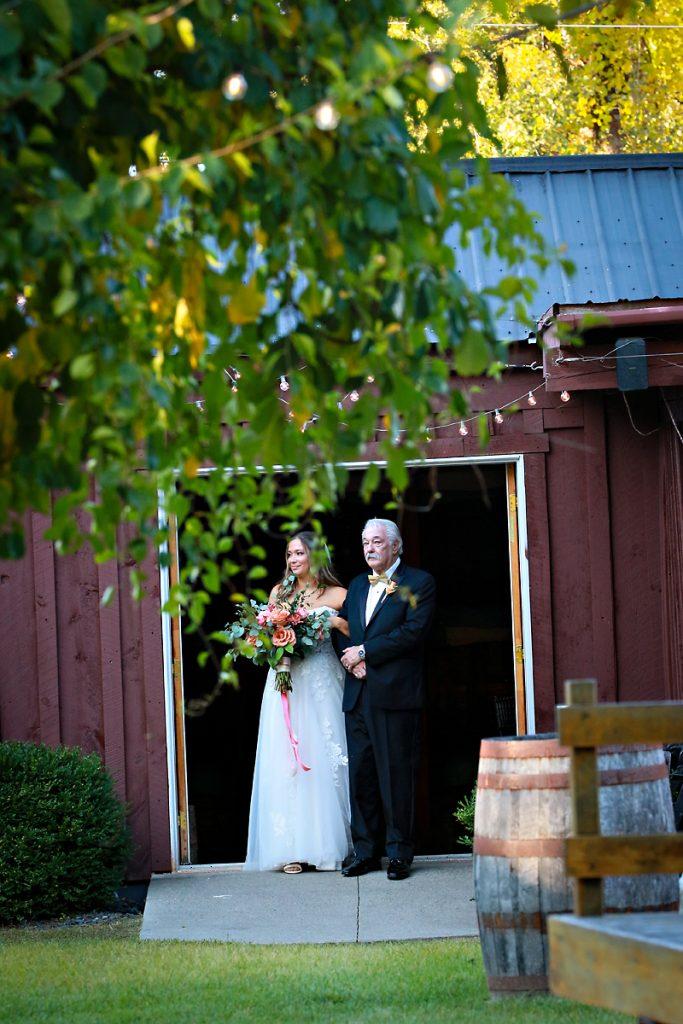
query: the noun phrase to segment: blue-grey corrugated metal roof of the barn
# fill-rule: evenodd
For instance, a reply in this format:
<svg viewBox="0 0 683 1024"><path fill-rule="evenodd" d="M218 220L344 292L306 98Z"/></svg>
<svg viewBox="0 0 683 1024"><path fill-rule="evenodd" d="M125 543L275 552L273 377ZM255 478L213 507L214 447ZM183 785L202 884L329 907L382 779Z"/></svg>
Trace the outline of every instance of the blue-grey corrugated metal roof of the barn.
<svg viewBox="0 0 683 1024"><path fill-rule="evenodd" d="M465 161L468 183L476 164ZM537 319L554 302L683 298L683 154L605 157L530 157L492 160L528 210L550 246L566 246L577 270L567 276L553 263L539 278L529 263L517 268L539 282ZM509 273L486 255L478 232L463 247L451 239L458 267L476 288ZM527 336L514 319L499 322L501 339Z"/></svg>

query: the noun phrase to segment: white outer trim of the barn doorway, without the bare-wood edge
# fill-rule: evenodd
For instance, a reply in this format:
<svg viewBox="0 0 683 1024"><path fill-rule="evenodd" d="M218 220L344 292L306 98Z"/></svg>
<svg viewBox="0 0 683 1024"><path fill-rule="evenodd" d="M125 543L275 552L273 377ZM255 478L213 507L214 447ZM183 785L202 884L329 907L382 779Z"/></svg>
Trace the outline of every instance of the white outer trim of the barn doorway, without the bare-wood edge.
<svg viewBox="0 0 683 1024"><path fill-rule="evenodd" d="M386 466L382 459L370 459L359 462L340 463L344 469L362 470L367 469L371 463L378 466ZM531 645L531 602L530 585L528 570L528 542L526 525L526 490L524 487L524 456L523 455L483 455L483 456L452 456L444 459L423 459L407 462L405 465L412 469L425 469L429 467L451 467L472 466L472 465L501 465L513 463L515 466L515 480L517 485L517 528L519 535L519 586L521 596L522 634L524 644L524 694L526 700L526 729L528 733L536 731L536 710L533 700L533 651ZM276 467L279 468L279 467ZM285 469L285 467L283 467ZM215 469L202 469L200 473L214 473ZM164 511L164 496L159 495L159 523L166 526L167 517ZM162 551L168 554L165 545ZM168 565L160 565L161 583L161 603L162 607L168 600L170 591L170 568ZM182 633L182 631L180 631ZM166 752L168 769L168 807L171 835L171 863L174 871L201 871L210 870L214 867L239 869L241 864L181 864L180 863L180 842L178 820L178 773L175 743L175 699L173 693L173 644L171 636L171 615L162 611L162 648L164 658L164 703L166 717ZM514 655L513 655L514 656ZM182 662L180 665L182 673ZM182 780L185 792L187 778ZM188 804L185 802L185 806ZM186 824L189 827L189 824Z"/></svg>

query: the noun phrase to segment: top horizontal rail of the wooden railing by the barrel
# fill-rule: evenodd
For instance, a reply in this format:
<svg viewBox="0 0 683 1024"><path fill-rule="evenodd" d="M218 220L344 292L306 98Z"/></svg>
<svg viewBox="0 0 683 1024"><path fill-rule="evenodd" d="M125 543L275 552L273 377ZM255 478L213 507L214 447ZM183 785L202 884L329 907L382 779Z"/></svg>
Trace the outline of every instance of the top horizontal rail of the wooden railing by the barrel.
<svg viewBox="0 0 683 1024"><path fill-rule="evenodd" d="M557 725L564 746L676 743L683 738L683 701L558 708Z"/></svg>

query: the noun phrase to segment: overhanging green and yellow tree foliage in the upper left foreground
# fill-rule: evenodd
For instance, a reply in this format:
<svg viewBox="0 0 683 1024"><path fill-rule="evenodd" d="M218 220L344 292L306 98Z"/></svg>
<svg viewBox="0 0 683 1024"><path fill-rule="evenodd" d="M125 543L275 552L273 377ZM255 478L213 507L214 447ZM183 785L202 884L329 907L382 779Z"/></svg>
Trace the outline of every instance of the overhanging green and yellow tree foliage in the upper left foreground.
<svg viewBox="0 0 683 1024"><path fill-rule="evenodd" d="M396 16L457 19L396 0L2 5L3 557L35 508L58 550L87 537L108 559L129 523L141 558L161 492L186 552L173 600L194 594L199 621L255 522L334 504L378 417L400 490L434 400L464 412L451 374L495 371L493 313L524 315L514 268L548 256L504 179L465 187L473 133L493 139L476 63L446 43L434 91ZM503 267L488 296L444 243L474 229Z"/></svg>

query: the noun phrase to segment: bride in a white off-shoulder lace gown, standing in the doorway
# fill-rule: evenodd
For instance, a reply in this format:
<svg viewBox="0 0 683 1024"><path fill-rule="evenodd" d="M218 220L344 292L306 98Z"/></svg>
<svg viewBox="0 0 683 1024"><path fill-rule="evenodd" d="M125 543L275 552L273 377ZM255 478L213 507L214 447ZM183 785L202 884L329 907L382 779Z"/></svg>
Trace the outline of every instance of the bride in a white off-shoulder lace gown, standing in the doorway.
<svg viewBox="0 0 683 1024"><path fill-rule="evenodd" d="M331 629L348 636L346 621L336 612L346 591L332 572L329 559L313 564L317 544L304 531L287 546L285 575L270 592L270 602L292 593L302 595L311 614L331 612ZM286 581L294 575L294 590ZM247 871L283 869L298 873L302 865L338 870L351 849L348 796L348 758L341 710L344 670L325 640L314 653L292 659L290 715L299 739L297 766L290 742L274 672L268 672L263 691L254 766Z"/></svg>

